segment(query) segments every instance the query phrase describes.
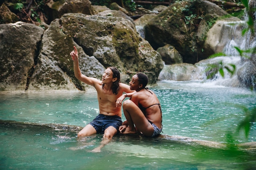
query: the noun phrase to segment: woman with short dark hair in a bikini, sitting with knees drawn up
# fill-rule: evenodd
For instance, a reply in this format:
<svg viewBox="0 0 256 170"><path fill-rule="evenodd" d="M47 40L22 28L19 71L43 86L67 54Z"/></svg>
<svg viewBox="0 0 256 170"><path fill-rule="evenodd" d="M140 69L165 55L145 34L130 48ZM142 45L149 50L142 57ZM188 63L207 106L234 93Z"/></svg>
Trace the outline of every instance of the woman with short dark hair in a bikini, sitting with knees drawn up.
<svg viewBox="0 0 256 170"><path fill-rule="evenodd" d="M119 131L122 134L140 132L148 137L158 136L162 131L162 110L155 93L145 88L148 77L143 73L137 73L129 84L130 90L137 93L126 95L131 98L123 103L126 121L119 127Z"/></svg>

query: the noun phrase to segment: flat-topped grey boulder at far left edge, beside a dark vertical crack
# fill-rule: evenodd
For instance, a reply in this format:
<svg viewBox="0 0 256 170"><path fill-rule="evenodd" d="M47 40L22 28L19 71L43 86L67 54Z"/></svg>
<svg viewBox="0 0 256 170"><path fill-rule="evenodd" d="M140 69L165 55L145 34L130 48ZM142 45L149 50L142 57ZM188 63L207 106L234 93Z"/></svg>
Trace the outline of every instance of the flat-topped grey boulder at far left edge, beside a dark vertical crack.
<svg viewBox="0 0 256 170"><path fill-rule="evenodd" d="M0 24L0 91L28 88L43 31L25 22Z"/></svg>

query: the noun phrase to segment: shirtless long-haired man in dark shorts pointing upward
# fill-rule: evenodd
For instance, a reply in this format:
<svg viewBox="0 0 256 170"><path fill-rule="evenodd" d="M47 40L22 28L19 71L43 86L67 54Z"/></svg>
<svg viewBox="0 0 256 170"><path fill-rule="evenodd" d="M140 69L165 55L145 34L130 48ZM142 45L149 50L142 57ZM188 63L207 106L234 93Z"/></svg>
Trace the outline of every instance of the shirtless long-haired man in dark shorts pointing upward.
<svg viewBox="0 0 256 170"><path fill-rule="evenodd" d="M85 84L94 86L97 91L99 102L99 115L86 125L78 137L90 136L96 133L103 133L103 139L112 139L117 134L119 126L122 125L121 107L116 104L123 92L131 93L129 86L120 82L120 73L115 67L108 67L102 75L102 80L87 77L81 73L77 49L70 52L74 61L74 75ZM125 96L125 95L124 95ZM104 143L104 142L103 142ZM98 150L100 151L100 150Z"/></svg>

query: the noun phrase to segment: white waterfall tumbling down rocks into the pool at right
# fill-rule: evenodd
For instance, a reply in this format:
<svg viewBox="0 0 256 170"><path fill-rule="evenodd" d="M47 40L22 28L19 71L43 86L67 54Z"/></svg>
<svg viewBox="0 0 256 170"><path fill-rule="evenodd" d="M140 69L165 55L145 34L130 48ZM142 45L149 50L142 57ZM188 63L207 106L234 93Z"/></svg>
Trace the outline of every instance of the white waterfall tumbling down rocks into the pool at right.
<svg viewBox="0 0 256 170"><path fill-rule="evenodd" d="M201 71L204 71L207 67L207 64L216 64L218 62L222 62L224 77L222 77L222 75L218 71L218 73L216 73L216 75L212 78L212 80L216 81L216 85L249 87L251 86L250 84L253 84L253 67L252 64L249 64L249 58L251 57L252 53L243 53L242 56L240 56L240 53L238 51L253 49L256 45L256 39L250 29L248 29L243 34L243 31L247 28L248 24L246 21L226 22L225 24L223 24L223 27L221 29L222 38L220 40L220 44L224 44L222 53L227 56L207 59L195 64L196 66L200 67ZM225 69L225 67L227 66L230 68L231 64L234 64L236 66L235 73L232 76L227 71L227 69ZM248 69L250 69L250 71L248 71ZM202 75L202 79L206 79L206 77L206 75Z"/></svg>

